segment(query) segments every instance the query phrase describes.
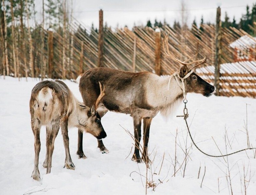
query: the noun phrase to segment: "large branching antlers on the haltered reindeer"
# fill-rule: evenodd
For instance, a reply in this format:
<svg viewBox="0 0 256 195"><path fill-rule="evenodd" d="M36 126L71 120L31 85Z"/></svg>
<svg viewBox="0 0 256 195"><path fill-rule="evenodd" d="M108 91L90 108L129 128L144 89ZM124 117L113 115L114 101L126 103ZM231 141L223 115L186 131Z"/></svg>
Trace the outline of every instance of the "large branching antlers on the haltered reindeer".
<svg viewBox="0 0 256 195"><path fill-rule="evenodd" d="M165 47L167 48L167 51L165 50ZM198 55L198 52L196 51L196 54L194 56L192 56L191 58L185 60L185 61L180 61L177 58L174 58L174 56L170 53L169 50L169 45L168 45L168 34L167 36L164 34L164 43L163 43L163 49L164 49L164 55L167 56L170 59L173 59L174 61L180 63L181 65L185 66L187 68L188 71L190 71L191 69L195 68L196 66L199 66L201 64L204 64L206 62L206 56L204 55L203 59L200 60L196 60L196 61L192 61L192 62L188 62L189 60L195 58ZM199 62L199 63L198 63ZM188 67L188 65L193 64L193 63L198 63L195 66L193 66L192 68Z"/></svg>

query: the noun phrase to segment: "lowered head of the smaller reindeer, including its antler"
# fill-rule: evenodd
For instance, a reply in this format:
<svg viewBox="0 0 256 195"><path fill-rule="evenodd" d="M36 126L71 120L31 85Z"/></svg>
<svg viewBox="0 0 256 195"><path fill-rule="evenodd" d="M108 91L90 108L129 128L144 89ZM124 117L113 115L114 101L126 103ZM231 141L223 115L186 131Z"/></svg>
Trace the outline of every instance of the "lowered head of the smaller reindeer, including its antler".
<svg viewBox="0 0 256 195"><path fill-rule="evenodd" d="M99 82L99 84L100 84L100 82ZM89 108L83 104L79 105L81 109L87 110L87 112L85 112L87 114L87 117L86 117L87 120L85 120L83 122L81 122L81 120L78 120L79 125L82 127L82 129L84 129L85 132L92 134L98 140L101 140L102 138L105 138L107 136L107 134L104 131L104 128L101 124L101 117L96 112L99 101L105 95L104 89L105 89L105 87L102 90L102 86L100 84L100 95L97 98L95 105L92 105L91 108Z"/></svg>

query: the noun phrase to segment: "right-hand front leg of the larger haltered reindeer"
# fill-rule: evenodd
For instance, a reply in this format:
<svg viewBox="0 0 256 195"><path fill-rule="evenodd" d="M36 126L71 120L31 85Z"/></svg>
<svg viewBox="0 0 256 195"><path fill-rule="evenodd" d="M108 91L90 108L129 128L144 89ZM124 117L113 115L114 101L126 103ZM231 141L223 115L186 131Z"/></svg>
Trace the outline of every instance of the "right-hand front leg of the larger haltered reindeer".
<svg viewBox="0 0 256 195"><path fill-rule="evenodd" d="M152 118L149 118L149 117L143 118L144 147L143 147L142 159L144 160L145 163L148 163L150 161L148 156L148 143L149 143L149 129L150 129L151 121L152 121Z"/></svg>

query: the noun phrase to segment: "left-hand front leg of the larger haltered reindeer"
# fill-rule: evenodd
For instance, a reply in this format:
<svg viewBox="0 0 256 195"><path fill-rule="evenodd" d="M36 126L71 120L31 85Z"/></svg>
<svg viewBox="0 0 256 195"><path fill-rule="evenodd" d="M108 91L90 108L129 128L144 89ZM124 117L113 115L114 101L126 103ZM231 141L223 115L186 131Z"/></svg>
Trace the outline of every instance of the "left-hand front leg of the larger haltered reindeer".
<svg viewBox="0 0 256 195"><path fill-rule="evenodd" d="M141 139L141 119L138 117L133 117L134 125L134 138L135 138L135 149L132 160L141 163L141 158L139 155L139 142Z"/></svg>

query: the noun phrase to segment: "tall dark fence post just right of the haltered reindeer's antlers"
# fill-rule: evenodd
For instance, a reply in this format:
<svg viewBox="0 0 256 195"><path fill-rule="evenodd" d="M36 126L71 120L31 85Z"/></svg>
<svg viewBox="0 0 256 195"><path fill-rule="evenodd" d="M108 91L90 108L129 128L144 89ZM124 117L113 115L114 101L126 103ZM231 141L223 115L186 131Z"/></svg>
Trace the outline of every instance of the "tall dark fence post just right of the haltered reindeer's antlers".
<svg viewBox="0 0 256 195"><path fill-rule="evenodd" d="M221 20L220 20L220 7L217 8L216 15L216 35L215 35L215 58L214 58L214 67L215 67L215 77L214 77L214 86L216 87L216 96L220 95L220 58L221 58Z"/></svg>

